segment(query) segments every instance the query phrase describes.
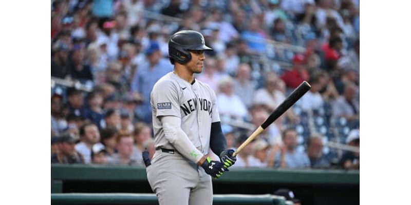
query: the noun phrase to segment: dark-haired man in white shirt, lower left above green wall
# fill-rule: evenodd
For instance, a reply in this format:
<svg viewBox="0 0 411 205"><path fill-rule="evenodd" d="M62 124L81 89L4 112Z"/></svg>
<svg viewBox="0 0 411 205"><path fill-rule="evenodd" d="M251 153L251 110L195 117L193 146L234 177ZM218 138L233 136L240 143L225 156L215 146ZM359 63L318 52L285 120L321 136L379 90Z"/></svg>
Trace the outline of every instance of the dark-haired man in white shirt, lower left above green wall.
<svg viewBox="0 0 411 205"><path fill-rule="evenodd" d="M95 124L87 122L80 128L80 142L76 151L84 157L85 163L91 163L91 147L100 141L100 132Z"/></svg>

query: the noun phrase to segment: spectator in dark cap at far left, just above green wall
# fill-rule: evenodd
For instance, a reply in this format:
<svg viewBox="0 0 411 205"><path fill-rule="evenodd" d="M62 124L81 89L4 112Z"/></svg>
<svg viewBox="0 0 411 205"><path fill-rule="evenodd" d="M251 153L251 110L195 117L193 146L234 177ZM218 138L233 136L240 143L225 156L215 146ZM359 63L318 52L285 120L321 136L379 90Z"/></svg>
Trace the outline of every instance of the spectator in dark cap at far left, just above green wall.
<svg viewBox="0 0 411 205"><path fill-rule="evenodd" d="M74 149L76 139L68 134L59 137L58 151L51 155L51 163L84 163L82 154Z"/></svg>

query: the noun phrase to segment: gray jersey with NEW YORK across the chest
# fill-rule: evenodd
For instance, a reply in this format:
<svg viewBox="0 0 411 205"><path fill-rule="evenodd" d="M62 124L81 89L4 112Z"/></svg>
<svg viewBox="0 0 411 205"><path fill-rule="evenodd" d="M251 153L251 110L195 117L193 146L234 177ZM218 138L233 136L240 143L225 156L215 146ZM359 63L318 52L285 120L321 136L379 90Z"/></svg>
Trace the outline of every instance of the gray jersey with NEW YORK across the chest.
<svg viewBox="0 0 411 205"><path fill-rule="evenodd" d="M155 146L174 149L164 136L159 116L181 118L181 129L204 155L210 148L211 123L220 121L214 91L199 80L193 85L173 72L161 77L151 93Z"/></svg>

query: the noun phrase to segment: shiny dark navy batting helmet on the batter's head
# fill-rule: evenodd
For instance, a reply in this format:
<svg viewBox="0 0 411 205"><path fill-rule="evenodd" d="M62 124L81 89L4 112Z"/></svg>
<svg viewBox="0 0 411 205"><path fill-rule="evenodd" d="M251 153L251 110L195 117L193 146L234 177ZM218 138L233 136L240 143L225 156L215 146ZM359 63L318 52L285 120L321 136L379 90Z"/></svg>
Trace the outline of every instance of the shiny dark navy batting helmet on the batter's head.
<svg viewBox="0 0 411 205"><path fill-rule="evenodd" d="M169 39L169 57L180 64L191 60L190 50L213 50L206 46L204 36L192 30L182 30L173 34Z"/></svg>

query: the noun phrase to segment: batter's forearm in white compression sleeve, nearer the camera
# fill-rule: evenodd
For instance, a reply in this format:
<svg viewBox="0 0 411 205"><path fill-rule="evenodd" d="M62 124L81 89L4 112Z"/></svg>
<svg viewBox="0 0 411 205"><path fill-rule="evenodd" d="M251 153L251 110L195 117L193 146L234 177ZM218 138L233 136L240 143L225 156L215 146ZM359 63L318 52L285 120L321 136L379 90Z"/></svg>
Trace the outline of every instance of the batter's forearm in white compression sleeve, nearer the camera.
<svg viewBox="0 0 411 205"><path fill-rule="evenodd" d="M184 157L197 163L203 154L193 145L189 137L181 129L180 118L175 116L161 117L165 138Z"/></svg>

